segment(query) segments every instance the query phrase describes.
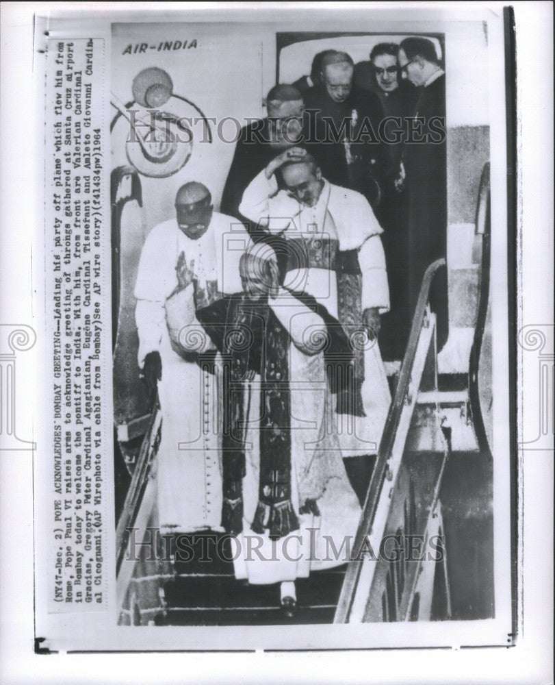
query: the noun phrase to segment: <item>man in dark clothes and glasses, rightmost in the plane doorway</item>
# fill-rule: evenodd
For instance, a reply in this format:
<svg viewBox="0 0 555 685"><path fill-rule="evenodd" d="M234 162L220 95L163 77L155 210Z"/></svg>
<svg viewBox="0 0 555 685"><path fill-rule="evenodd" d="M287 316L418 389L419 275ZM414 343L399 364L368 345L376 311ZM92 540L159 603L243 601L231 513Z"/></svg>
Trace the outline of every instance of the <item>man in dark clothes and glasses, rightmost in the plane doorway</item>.
<svg viewBox="0 0 555 685"><path fill-rule="evenodd" d="M402 156L409 198L409 294L414 312L428 266L447 256L447 157L445 72L435 45L426 38L405 38L399 46L401 75L418 89L413 116L422 126ZM423 142L418 142L418 141ZM446 269L437 273L430 292L437 315L438 349L449 333Z"/></svg>

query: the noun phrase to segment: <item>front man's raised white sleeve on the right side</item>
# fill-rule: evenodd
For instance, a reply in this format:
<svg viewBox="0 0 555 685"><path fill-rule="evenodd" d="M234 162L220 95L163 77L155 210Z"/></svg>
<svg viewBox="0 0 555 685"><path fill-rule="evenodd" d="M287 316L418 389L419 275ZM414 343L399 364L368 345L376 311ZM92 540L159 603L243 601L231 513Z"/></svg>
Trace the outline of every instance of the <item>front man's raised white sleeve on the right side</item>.
<svg viewBox="0 0 555 685"><path fill-rule="evenodd" d="M268 302L295 347L308 355L322 351L327 328L319 314L283 288L279 289L276 299L270 298Z"/></svg>

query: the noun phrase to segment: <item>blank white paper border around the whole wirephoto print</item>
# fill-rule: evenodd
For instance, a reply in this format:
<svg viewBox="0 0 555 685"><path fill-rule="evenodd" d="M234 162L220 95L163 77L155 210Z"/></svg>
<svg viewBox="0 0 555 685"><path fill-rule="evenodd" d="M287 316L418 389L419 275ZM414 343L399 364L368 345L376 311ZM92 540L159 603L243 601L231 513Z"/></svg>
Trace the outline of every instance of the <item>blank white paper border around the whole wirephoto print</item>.
<svg viewBox="0 0 555 685"><path fill-rule="evenodd" d="M83 3L84 4L84 3ZM92 6L94 3L87 3ZM116 3L111 3L110 8L114 8ZM422 8L424 3L420 3ZM523 286L523 305L524 310L520 323L536 323L545 321L546 317L551 316L550 289L545 288L546 282L552 283L552 264L550 256L552 254L552 225L548 225L552 216L552 79L549 75L549 68L552 64L552 45L550 30L552 23L552 10L549 3L526 3L526 10L517 3L517 51L519 64L522 64L526 77L519 82L519 92L521 92L521 103L523 107L520 112L520 125L522 139L519 143L521 151L521 184L524 193L521 197L521 221L528 228L523 232L522 251L524 256L522 270ZM44 5L40 7L43 8ZM82 5L81 5L82 6ZM144 5L143 5L144 6ZM158 5L159 6L159 5ZM391 5L390 5L391 6ZM452 5L451 5L452 6ZM476 5L474 5L476 7ZM56 5L49 5L50 9L55 9ZM63 5L64 9L68 5ZM253 5L250 5L252 8ZM358 4L360 8L360 3ZM372 5L376 7L376 5ZM437 5L433 5L437 11ZM464 5L463 5L464 8ZM497 5L501 11L501 5ZM29 144L29 132L34 129L34 103L28 97L32 92L30 66L32 55L29 54L31 43L32 24L31 12L38 9L37 5L29 3L23 7L21 3L4 3L2 8L2 89L3 97L1 103L1 128L3 132L0 153L2 159L2 281L3 293L5 293L5 281L10 284L10 294L14 293L13 299L8 299L8 307L5 307L6 297L3 295L2 319L16 320L13 316L18 316L18 320L27 321L27 314L31 311L31 292L29 287L29 251L25 247L29 245L29 233L36 225L36 212L31 203L20 202L17 206L12 203L6 205L6 197L21 197L21 184L25 179L32 179L29 173L29 160L33 159L32 147ZM126 5L126 10L129 5ZM175 9L175 5L172 5ZM9 14L8 14L9 13ZM522 13L522 14L521 14ZM8 16L8 18L7 18ZM521 23L520 23L521 18ZM530 69L530 64L545 64L543 69ZM547 75L547 77L546 77ZM5 92L8 90L8 95ZM27 98L22 95L27 92ZM11 100L11 101L10 101ZM29 101L31 100L31 101ZM11 102L17 103L17 110L14 113ZM8 103L8 105L6 104ZM10 111L11 110L11 111ZM17 130L21 138L16 141L8 140L6 132L13 131L14 119L17 122ZM530 121L530 124L527 122ZM547 152L547 153L546 153ZM541 164L538 163L541 160ZM10 175L5 177L6 170ZM39 186L41 187L41 186ZM32 190L32 186L31 186ZM530 192L531 191L531 192ZM541 199L541 201L539 201ZM10 227L10 233L6 233L6 226ZM17 226L17 229L12 229ZM6 236L10 238L13 231L17 232L17 241L6 241ZM541 231L541 239L538 239L538 231ZM551 240L551 244L550 244ZM16 242L16 249L7 251L6 242L13 245ZM542 268L543 267L543 268ZM548 277L546 278L546 274ZM12 290L13 288L13 290ZM528 294L530 297L528 298ZM27 295L28 299L26 299ZM10 316L6 318L6 313ZM24 315L25 314L25 315ZM530 314L530 317L528 316ZM34 352L34 362L38 359L38 347ZM29 370L30 373L29 373ZM19 370L18 370L19 373ZM21 377L27 379L32 386L33 378L32 364L25 364L25 369L21 369ZM530 379L532 382L535 379ZM20 419L21 417L21 419ZM523 416L524 421L535 417ZM27 435L25 429L30 427L32 432L32 416L22 417L21 435ZM19 426L18 426L19 427ZM546 677L550 677L550 645L552 636L552 623L550 607L552 606L552 492L551 487L546 488L546 484L552 483L552 454L533 455L528 458L523 455L524 465L524 488L523 494L526 508L526 523L524 526L524 612L522 614L523 625L522 634L517 642L517 646L508 650L463 650L458 651L410 651L404 654L403 658L395 658L394 653L320 653L318 656L304 656L300 658L294 654L289 654L285 658L279 658L282 674L288 682L296 682L302 677L303 680L309 679L311 675L314 680L321 682L359 682L361 673L368 673L371 665L372 680L380 682L398 682L402 677L401 671L409 677L410 682L431 682L433 673L442 682L474 682L474 678L469 672L471 665L476 666L475 677L483 682L485 678L494 682L545 682ZM530 463L532 462L532 463ZM538 462L540 462L538 464ZM171 682L179 682L183 678L183 661L181 666L178 664L181 658L178 655L133 655L118 656L118 675L114 678L115 656L102 658L108 666L107 670L98 669L100 657L91 658L90 663L95 667L91 669L83 667L83 657L72 656L64 661L64 675L61 677L60 665L52 666L52 661L59 661L58 657L37 657L31 653L32 649L32 630L26 630L29 625L32 627L32 569L31 569L31 549L32 549L32 493L31 467L29 456L20 453L13 458L13 455L5 458L1 455L1 515L2 515L2 571L1 580L3 588L2 614L3 623L1 630L1 640L3 649L3 678L6 682L38 682L37 672L40 668L41 680L44 682L98 682L96 675L104 675L107 682L117 680L125 682L126 674L133 682L146 682L147 680L162 679ZM9 489L7 485L11 486ZM8 490L8 491L6 491ZM539 516L534 516L534 512ZM6 535L5 532L9 534ZM532 547L528 546L530 540ZM541 543L541 544L540 544ZM534 556L528 558L531 549ZM538 552L541 557L538 558ZM542 560L543 557L543 560ZM27 610L30 608L29 616ZM542 612L543 610L543 612ZM5 616L10 617L6 621ZM543 620L539 620L543 616ZM10 629L6 630L8 625ZM376 626L377 627L377 626ZM23 629L23 630L22 630ZM159 629L157 629L159 630ZM549 646L548 646L549 645ZM8 660L5 654L8 654ZM504 658L500 659L500 654ZM478 655L478 656L477 656ZM481 656L480 656L481 655ZM487 656L486 656L487 655ZM518 656L517 656L518 655ZM159 657L161 659L159 659ZM525 658L526 657L526 658ZM38 663L36 659L41 661ZM250 657L249 662L243 659L248 658L241 655L225 656L218 658L220 673L226 682L234 682L233 673L241 677L242 680L262 680L264 675L271 675L276 666L276 655L257 654ZM446 660L452 663L447 667ZM298 667L298 663L305 662L306 667ZM504 662L501 668L495 666L496 662ZM170 665L170 662L173 662ZM109 664L112 664L112 668ZM208 671L202 664L214 664L214 656L211 655L189 655L187 657L188 675L193 675L192 667L196 673L196 682L211 680ZM8 664L8 669L6 669ZM161 671L162 664L164 667ZM245 664L248 664L245 667ZM350 664L345 669L345 664ZM198 666L200 670L196 670ZM361 668L363 670L361 671ZM237 669L237 670L235 670ZM138 677L134 671L142 673ZM69 675L73 671L73 678ZM288 677L286 676L288 673ZM167 677L166 677L167 674ZM251 678L245 675L250 674ZM416 674L419 674L415 677ZM449 675L448 675L449 674ZM275 674L278 675L277 673ZM93 681L94 677L94 681ZM278 680L276 677L272 680ZM282 680L279 677L279 680Z"/></svg>

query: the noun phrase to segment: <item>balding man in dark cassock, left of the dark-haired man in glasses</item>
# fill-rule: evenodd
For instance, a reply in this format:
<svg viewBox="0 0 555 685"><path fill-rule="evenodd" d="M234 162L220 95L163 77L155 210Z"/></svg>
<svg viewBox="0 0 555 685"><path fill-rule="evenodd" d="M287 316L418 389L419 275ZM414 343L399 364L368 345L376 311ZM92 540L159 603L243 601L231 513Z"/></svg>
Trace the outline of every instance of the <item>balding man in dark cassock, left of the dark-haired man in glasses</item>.
<svg viewBox="0 0 555 685"><path fill-rule="evenodd" d="M303 95L305 147L329 182L361 192L375 208L388 166L378 136L383 107L374 93L353 86L353 74L347 53L324 53L322 82Z"/></svg>

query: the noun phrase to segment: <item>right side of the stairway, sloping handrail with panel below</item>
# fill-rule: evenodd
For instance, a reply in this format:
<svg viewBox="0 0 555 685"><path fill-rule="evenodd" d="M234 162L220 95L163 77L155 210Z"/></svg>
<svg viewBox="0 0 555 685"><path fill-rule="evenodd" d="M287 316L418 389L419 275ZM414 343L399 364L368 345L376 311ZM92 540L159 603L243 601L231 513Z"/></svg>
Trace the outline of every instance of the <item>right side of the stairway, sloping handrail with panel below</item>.
<svg viewBox="0 0 555 685"><path fill-rule="evenodd" d="M445 269L445 260L428 267L417 302L409 343L396 392L389 408L378 458L361 522L354 539L353 556L335 612L335 623L430 619L437 564L405 560L407 536L442 535L439 489L450 452L450 428L441 425L437 386L435 314L428 297L433 278ZM415 407L435 406L427 449L407 453L414 432ZM424 438L426 439L426 438ZM380 554L385 536L392 536L391 551ZM365 553L366 551L366 553ZM426 550L427 552L427 550ZM413 555L420 558L421 554ZM385 558L387 557L387 558ZM395 558L393 562L389 559ZM376 560L377 559L377 560ZM450 616L446 564L441 562L445 618Z"/></svg>

